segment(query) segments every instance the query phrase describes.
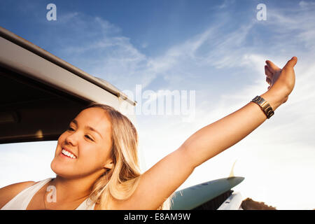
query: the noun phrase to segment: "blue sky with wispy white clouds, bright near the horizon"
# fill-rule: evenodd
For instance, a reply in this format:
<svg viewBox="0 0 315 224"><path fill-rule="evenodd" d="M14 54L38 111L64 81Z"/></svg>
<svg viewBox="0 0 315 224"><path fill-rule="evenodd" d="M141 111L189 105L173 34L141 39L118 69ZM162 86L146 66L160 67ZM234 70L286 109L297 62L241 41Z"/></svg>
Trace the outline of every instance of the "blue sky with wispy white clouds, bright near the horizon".
<svg viewBox="0 0 315 224"><path fill-rule="evenodd" d="M57 20L46 17L49 3L55 3ZM235 176L245 179L233 190L244 199L277 209L315 209L315 1L3 0L0 26L130 97L141 90L135 125L144 171L200 128L267 91L266 59L282 67L296 56L288 102L248 137L197 167L178 190L228 177L235 163ZM154 113L159 90L179 92L187 110ZM0 145L0 187L55 176L55 146Z"/></svg>

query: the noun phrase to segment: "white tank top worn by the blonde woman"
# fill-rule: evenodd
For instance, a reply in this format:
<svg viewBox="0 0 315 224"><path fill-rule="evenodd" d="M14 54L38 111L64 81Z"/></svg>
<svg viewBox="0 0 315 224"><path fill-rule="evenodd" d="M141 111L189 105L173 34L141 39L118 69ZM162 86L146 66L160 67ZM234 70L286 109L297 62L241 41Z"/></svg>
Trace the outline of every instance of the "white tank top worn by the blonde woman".
<svg viewBox="0 0 315 224"><path fill-rule="evenodd" d="M3 206L1 210L26 210L34 195L50 180L52 180L52 178L39 181L33 186L22 190L18 195L13 197L10 202ZM76 210L94 210L94 206L95 204L92 204L91 200L87 198L76 208Z"/></svg>

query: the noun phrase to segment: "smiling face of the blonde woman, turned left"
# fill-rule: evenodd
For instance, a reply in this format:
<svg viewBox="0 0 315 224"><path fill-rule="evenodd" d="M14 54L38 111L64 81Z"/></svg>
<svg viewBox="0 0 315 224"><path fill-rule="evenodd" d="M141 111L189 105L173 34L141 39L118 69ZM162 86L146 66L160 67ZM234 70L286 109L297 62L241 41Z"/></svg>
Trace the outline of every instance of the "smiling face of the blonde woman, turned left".
<svg viewBox="0 0 315 224"><path fill-rule="evenodd" d="M59 137L50 167L65 178L100 176L113 166L111 120L100 108L81 111Z"/></svg>

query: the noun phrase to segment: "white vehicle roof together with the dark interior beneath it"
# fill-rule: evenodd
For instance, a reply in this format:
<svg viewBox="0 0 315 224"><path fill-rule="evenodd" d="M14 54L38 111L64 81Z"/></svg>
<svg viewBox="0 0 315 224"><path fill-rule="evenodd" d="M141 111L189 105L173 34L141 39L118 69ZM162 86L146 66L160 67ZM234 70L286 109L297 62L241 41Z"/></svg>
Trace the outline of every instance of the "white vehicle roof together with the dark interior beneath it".
<svg viewBox="0 0 315 224"><path fill-rule="evenodd" d="M91 102L122 113L137 102L111 83L0 27L0 144L57 140ZM135 122L135 116L125 115Z"/></svg>

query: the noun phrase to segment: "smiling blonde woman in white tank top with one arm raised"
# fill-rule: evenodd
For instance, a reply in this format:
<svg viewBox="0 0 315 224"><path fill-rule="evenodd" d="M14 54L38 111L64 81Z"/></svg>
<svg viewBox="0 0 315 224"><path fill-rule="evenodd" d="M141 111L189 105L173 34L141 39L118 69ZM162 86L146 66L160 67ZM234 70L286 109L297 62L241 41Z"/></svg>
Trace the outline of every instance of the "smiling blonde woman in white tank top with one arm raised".
<svg viewBox="0 0 315 224"><path fill-rule="evenodd" d="M279 69L266 61L269 86L261 98L198 130L144 174L134 125L110 106L92 104L58 139L51 163L55 179L1 188L0 208L167 209L169 197L195 167L244 139L287 101L296 62L293 57Z"/></svg>

